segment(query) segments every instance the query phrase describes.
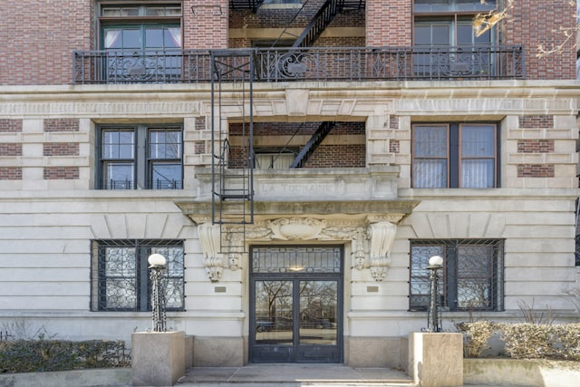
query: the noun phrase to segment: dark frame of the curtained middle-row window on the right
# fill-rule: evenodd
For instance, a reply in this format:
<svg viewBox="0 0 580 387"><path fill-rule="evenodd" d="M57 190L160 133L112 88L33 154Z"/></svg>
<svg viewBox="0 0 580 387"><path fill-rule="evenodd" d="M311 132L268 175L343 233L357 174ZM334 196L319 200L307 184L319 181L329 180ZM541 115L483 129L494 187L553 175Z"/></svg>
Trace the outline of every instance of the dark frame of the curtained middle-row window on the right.
<svg viewBox="0 0 580 387"><path fill-rule="evenodd" d="M463 134L462 134L462 127L475 127L475 126L482 126L482 127L494 127L494 154L493 157L462 157L462 149L463 149ZM428 157L428 156L420 156L418 157L416 154L416 133L415 128L447 128L447 155L445 157ZM500 125L499 122L488 121L463 121L463 122L414 122L411 124L411 187L414 189L465 189L463 181L461 181L461 172L462 172L462 163L461 160L494 160L494 176L493 176L493 185L492 187L485 187L485 188L474 188L474 189L489 189L489 188L499 188L501 187L501 162L500 162ZM447 185L445 187L417 187L418 184L415 180L417 173L415 172L415 167L418 164L418 160L428 160L428 159L438 159L438 160L447 160Z"/></svg>

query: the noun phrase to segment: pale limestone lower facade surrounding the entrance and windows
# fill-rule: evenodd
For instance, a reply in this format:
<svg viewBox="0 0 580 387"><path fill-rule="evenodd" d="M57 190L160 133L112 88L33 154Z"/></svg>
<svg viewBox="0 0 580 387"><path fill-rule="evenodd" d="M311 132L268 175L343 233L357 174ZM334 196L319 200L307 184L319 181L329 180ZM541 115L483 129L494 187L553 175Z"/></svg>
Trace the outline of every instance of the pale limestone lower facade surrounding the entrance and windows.
<svg viewBox="0 0 580 387"><path fill-rule="evenodd" d="M563 319L577 315L563 293L578 285L580 83L254 87L256 121L364 123L365 168L256 170L256 218L245 240L248 247L343 246L344 363L404 365L407 334L426 326L424 312L409 311L411 239L505 239L505 310L479 318L518 319L521 301ZM236 90L224 95L239 98ZM239 104L229 106L221 117L226 133L243 114ZM552 117L553 124L522 125L522 117L536 116ZM168 326L196 336L194 364L247 362L248 256L221 254L211 224L208 85L2 87L0 117L21 122L21 130L0 131L0 143L22 145L17 156L0 154L0 169L22 173L0 179L0 324L25 319L59 338L129 340L150 326L150 314L90 311L90 242L179 238L185 241L185 311L169 312ZM78 131L45 131L50 119L78 121ZM500 188L411 188L413 122L484 120L500 123ZM108 122L183 124L183 189L94 189L95 127ZM553 151L518 151L522 140L552 141ZM44 155L43 144L53 142L78 144L78 154ZM200 142L205 151L196 152ZM520 173L519 166L540 164L553 166L553 175ZM44 170L55 166L78 169L78 178L46 179ZM444 313L444 326L470 317Z"/></svg>

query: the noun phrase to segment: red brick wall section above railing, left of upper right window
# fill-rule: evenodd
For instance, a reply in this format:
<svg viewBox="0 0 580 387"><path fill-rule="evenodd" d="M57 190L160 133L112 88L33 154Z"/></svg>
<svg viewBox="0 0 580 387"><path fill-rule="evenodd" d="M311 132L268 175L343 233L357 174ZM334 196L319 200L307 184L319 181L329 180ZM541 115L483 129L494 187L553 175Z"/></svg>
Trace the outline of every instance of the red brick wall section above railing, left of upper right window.
<svg viewBox="0 0 580 387"><path fill-rule="evenodd" d="M366 45L412 44L412 0L367 0Z"/></svg>

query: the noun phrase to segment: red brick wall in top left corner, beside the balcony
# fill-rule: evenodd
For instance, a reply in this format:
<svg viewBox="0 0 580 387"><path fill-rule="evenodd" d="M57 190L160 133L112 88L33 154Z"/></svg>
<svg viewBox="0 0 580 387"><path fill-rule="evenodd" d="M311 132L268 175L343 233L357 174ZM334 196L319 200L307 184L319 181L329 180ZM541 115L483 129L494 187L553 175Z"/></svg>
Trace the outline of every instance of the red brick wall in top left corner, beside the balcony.
<svg viewBox="0 0 580 387"><path fill-rule="evenodd" d="M92 48L91 0L0 1L0 85L72 81L74 50Z"/></svg>

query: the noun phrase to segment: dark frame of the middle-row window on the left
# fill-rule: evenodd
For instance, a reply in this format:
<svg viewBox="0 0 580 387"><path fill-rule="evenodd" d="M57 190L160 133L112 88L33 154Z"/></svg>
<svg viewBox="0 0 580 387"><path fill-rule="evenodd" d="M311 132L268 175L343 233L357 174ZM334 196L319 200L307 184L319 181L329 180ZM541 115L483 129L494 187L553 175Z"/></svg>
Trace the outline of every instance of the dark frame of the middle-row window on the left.
<svg viewBox="0 0 580 387"><path fill-rule="evenodd" d="M103 136L107 132L131 132L133 133L133 150L132 158L123 157L121 154L119 158L106 157L105 144ZM176 158L153 158L150 151L150 134L156 131L174 131L179 132L179 157ZM183 189L183 157L184 157L184 139L183 139L183 125L181 124L133 124L133 125L100 125L97 127L97 144L96 144L96 166L95 169L95 187L96 189ZM165 143L166 145L168 143ZM169 144L176 144L171 142ZM109 145L114 145L113 143ZM131 180L119 186L114 182L116 180L109 179L107 166L114 163L132 163L132 177ZM155 165L176 165L179 164L179 181L168 180L167 184L155 184L153 180Z"/></svg>

